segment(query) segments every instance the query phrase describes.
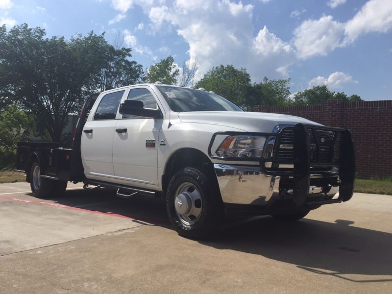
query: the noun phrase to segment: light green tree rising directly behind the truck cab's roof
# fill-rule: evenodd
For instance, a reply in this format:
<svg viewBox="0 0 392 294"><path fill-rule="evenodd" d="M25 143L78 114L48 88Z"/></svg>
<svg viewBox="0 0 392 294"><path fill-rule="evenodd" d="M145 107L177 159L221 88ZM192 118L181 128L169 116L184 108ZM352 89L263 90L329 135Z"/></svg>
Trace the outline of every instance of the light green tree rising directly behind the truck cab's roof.
<svg viewBox="0 0 392 294"><path fill-rule="evenodd" d="M172 85L176 83L178 74L179 70L176 69L174 59L172 56L169 56L147 69L146 81L147 83L160 81L163 84Z"/></svg>

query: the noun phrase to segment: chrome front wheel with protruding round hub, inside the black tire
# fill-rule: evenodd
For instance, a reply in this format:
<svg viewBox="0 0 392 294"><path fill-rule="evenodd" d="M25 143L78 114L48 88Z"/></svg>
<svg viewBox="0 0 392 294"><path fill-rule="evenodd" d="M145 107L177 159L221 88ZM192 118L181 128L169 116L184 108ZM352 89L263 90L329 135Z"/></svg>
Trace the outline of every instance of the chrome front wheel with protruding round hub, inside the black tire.
<svg viewBox="0 0 392 294"><path fill-rule="evenodd" d="M201 195L196 186L189 182L182 183L175 195L174 208L179 221L186 225L195 224L202 209Z"/></svg>

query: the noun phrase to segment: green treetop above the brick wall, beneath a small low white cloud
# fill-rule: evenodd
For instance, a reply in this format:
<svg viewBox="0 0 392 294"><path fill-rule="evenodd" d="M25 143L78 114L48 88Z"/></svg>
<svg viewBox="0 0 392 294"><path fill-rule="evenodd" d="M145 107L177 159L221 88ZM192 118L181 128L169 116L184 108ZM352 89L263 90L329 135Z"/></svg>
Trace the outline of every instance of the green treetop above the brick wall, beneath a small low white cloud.
<svg viewBox="0 0 392 294"><path fill-rule="evenodd" d="M314 105L322 104L326 100L333 99L334 93L329 91L327 86L317 86L297 92L294 95L294 105Z"/></svg>

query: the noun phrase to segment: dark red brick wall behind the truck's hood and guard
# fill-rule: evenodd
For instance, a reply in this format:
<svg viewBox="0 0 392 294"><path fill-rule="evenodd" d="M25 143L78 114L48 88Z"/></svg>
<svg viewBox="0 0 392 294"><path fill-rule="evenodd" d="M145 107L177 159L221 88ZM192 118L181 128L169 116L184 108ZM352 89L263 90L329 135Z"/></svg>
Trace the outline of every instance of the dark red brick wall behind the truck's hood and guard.
<svg viewBox="0 0 392 294"><path fill-rule="evenodd" d="M328 126L349 128L353 134L357 176L392 177L392 100L328 100L322 105L289 107L257 105L253 111L290 114Z"/></svg>

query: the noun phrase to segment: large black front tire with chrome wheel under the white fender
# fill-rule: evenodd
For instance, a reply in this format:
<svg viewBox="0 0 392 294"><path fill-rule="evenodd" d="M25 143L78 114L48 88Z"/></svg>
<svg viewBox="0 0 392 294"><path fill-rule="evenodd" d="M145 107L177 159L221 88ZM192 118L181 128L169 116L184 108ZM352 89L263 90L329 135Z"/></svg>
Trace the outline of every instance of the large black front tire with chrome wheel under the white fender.
<svg viewBox="0 0 392 294"><path fill-rule="evenodd" d="M210 237L218 228L223 204L216 186L198 168L184 168L174 174L166 193L166 208L169 220L179 235L203 239ZM181 197L187 197L187 200ZM184 203L181 202L183 200ZM187 212L178 212L181 209L187 209ZM192 215L193 212L195 215Z"/></svg>

